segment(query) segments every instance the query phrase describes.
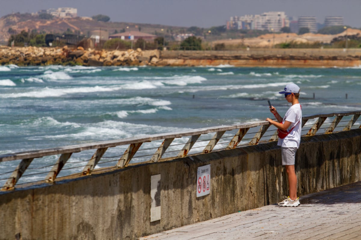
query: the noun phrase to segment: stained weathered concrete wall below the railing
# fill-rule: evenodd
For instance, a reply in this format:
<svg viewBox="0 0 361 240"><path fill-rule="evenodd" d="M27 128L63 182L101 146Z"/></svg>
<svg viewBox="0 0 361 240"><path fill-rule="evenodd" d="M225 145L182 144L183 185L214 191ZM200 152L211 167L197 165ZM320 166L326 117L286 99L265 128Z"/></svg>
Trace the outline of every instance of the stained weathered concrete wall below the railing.
<svg viewBox="0 0 361 240"><path fill-rule="evenodd" d="M361 129L303 137L298 193L361 180ZM287 195L275 142L0 194L0 239L135 239L273 204ZM210 194L196 197L197 167L211 165ZM150 179L161 175L161 220L150 222Z"/></svg>

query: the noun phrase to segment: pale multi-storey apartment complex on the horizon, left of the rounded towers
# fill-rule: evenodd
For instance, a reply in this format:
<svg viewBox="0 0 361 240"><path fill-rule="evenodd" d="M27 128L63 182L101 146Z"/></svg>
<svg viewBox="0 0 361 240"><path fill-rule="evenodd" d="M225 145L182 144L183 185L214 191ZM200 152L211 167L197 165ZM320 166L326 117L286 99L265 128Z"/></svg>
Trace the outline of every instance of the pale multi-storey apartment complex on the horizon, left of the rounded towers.
<svg viewBox="0 0 361 240"><path fill-rule="evenodd" d="M231 17L227 29L255 29L279 32L283 27L289 27L290 21L284 12L266 12L257 15Z"/></svg>

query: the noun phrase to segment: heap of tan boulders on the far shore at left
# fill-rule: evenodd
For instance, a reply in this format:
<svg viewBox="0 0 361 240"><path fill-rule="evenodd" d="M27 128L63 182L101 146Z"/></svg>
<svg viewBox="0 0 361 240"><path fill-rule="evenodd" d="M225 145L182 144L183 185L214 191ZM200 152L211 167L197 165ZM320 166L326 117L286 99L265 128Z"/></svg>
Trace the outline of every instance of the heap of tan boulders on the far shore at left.
<svg viewBox="0 0 361 240"><path fill-rule="evenodd" d="M84 65L84 66L138 66L156 65L158 50L97 50L77 47L7 47L0 48L0 64L18 66Z"/></svg>

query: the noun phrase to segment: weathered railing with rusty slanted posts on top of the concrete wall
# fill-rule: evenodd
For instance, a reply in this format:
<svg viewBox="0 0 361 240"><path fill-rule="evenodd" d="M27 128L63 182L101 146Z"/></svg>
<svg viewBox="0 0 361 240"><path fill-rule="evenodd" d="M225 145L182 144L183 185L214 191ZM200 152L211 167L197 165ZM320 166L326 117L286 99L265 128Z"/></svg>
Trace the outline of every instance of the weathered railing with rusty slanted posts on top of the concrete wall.
<svg viewBox="0 0 361 240"><path fill-rule="evenodd" d="M360 123L356 123L360 114L361 110L303 117L302 135L313 136L361 128ZM269 125L268 121L255 121L10 153L0 155L0 166L10 162L13 163L12 168L15 168L0 172L0 184L3 184L1 181L6 181L1 190L9 191L15 186L23 187L34 182L52 183L60 179L61 171L63 177L86 176L97 171L104 172L139 163L167 161L187 155L206 154L277 139L277 129L273 125ZM94 149L96 149L95 153ZM90 155L91 157L88 158Z"/></svg>

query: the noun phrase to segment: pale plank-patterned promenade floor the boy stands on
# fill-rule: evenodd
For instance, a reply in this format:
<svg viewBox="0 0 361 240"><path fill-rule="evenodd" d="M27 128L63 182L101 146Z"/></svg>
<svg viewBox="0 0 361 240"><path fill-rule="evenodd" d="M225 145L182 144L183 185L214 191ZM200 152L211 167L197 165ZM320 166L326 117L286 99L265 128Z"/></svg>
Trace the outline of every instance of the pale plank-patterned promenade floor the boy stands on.
<svg viewBox="0 0 361 240"><path fill-rule="evenodd" d="M300 203L268 205L140 239L361 240L361 181L301 196Z"/></svg>

